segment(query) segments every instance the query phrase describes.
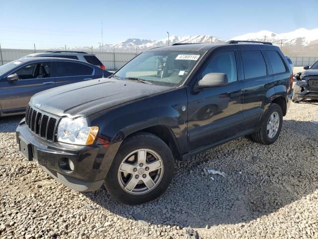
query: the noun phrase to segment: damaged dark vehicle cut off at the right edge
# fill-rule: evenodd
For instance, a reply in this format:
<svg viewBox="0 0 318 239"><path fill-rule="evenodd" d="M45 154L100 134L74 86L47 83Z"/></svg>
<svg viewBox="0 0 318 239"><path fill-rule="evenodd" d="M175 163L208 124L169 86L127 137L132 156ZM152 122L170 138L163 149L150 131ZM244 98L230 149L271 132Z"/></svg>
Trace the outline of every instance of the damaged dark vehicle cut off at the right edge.
<svg viewBox="0 0 318 239"><path fill-rule="evenodd" d="M299 103L305 99L318 99L318 61L314 65L305 66L304 72L297 73L294 86L293 102Z"/></svg>

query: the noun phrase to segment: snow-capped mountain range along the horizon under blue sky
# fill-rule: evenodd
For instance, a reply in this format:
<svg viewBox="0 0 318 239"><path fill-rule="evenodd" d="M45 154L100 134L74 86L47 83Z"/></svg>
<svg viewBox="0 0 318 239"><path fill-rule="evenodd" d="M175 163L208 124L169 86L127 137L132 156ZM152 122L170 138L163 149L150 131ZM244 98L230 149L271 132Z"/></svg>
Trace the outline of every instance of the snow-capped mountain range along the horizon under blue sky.
<svg viewBox="0 0 318 239"><path fill-rule="evenodd" d="M269 41L274 45L282 47L286 55L318 55L318 28L308 30L299 28L295 31L286 33L275 33L272 31L262 30L259 32L247 33L233 37L230 40L252 40L252 41ZM169 44L174 43L225 43L223 40L213 35L197 36L170 36ZM154 47L167 46L168 38L160 40L130 38L117 44L104 44L103 51L128 51L140 52ZM89 47L76 47L73 49L87 50ZM94 51L99 51L99 47L94 47Z"/></svg>

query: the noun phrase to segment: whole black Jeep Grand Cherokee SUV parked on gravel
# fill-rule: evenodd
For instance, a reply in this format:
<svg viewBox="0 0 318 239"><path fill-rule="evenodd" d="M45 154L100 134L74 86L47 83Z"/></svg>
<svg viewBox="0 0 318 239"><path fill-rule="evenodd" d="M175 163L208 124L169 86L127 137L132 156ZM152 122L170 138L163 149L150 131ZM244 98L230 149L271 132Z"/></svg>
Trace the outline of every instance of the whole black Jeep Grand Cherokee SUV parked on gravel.
<svg viewBox="0 0 318 239"><path fill-rule="evenodd" d="M140 204L166 190L175 158L243 135L275 142L292 79L270 43L155 48L110 78L34 95L16 139L62 184L93 191L105 182L119 202Z"/></svg>

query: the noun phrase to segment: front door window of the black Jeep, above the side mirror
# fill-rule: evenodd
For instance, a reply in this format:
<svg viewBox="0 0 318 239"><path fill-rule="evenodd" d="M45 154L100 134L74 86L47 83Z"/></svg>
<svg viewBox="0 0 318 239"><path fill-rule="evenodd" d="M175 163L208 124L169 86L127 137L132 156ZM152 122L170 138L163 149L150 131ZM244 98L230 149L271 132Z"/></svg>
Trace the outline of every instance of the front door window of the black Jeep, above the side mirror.
<svg viewBox="0 0 318 239"><path fill-rule="evenodd" d="M208 73L224 73L228 76L229 83L238 80L237 60L235 52L217 53L202 72L202 78Z"/></svg>

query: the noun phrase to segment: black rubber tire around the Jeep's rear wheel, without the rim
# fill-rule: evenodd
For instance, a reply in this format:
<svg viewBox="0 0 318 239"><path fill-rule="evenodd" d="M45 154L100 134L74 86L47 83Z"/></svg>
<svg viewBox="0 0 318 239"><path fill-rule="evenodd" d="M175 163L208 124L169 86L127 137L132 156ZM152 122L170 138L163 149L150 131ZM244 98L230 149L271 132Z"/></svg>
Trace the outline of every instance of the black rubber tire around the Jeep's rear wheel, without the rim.
<svg viewBox="0 0 318 239"><path fill-rule="evenodd" d="M279 115L279 126L278 126L278 130L276 132L275 137L270 138L267 134L267 123L268 120L270 118L270 116L274 113L277 112ZM264 135L264 140L266 144L271 144L273 142L275 142L277 140L277 138L279 137L280 131L282 129L282 125L283 125L283 112L282 109L277 105L277 104L272 104L270 106L270 108L267 111L267 114L265 116L265 119L263 121L263 125L262 125L262 134Z"/></svg>

